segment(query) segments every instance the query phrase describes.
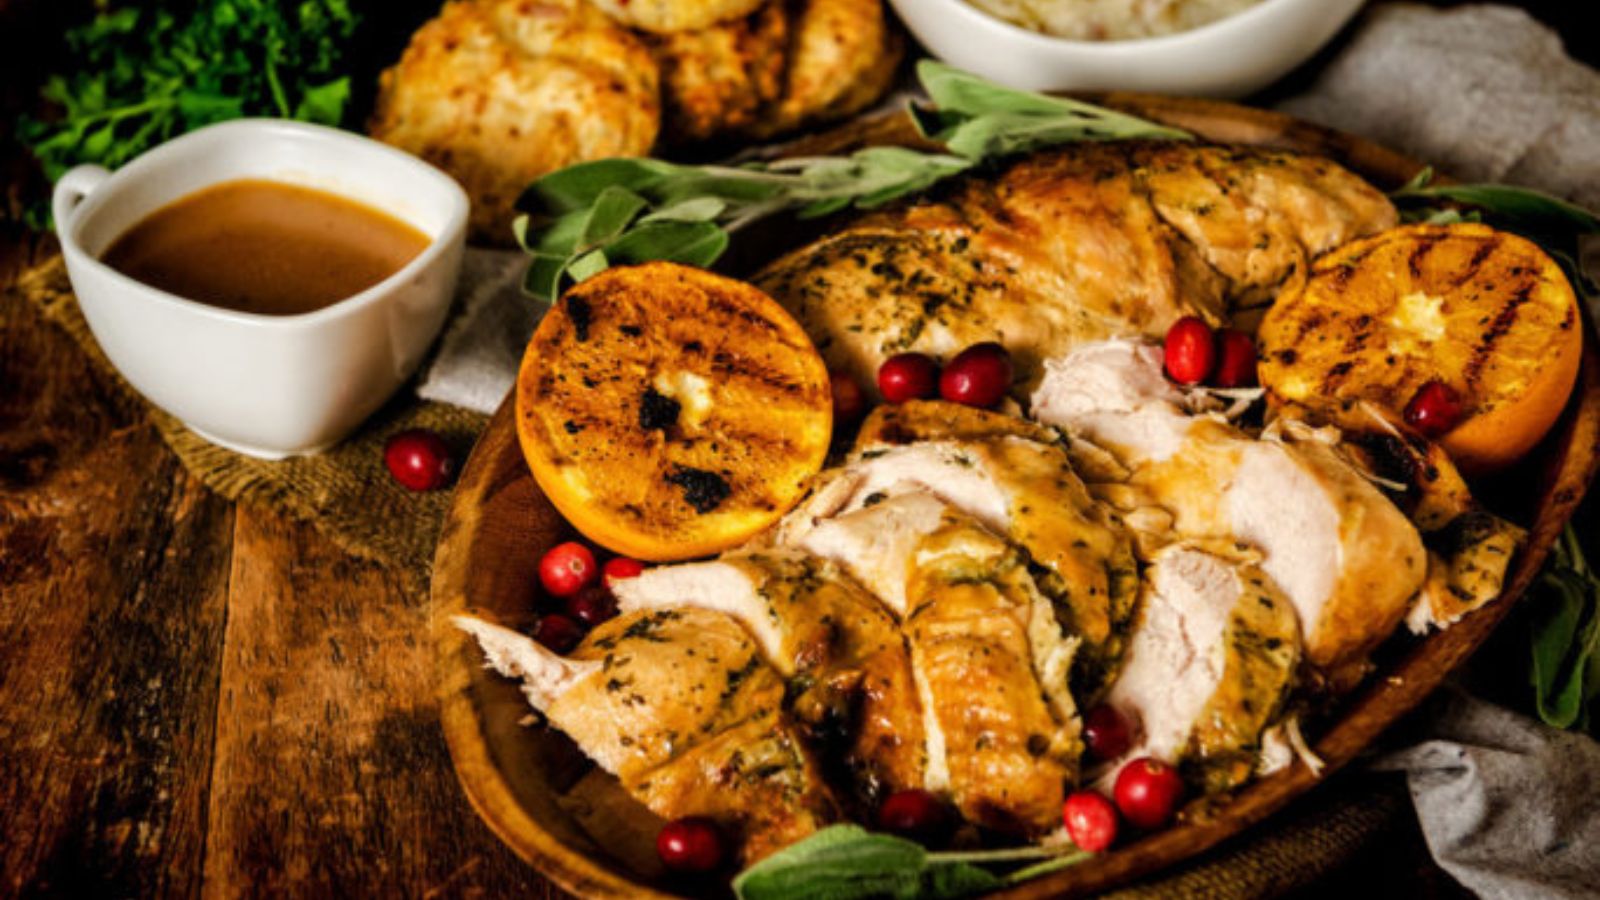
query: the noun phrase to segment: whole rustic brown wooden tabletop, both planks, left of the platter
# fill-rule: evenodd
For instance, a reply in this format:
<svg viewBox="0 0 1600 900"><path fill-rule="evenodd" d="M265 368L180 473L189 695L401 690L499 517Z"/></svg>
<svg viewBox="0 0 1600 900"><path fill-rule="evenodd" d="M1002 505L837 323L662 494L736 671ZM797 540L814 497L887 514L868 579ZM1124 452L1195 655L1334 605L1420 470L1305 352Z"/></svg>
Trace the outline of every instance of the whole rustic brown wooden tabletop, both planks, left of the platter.
<svg viewBox="0 0 1600 900"><path fill-rule="evenodd" d="M0 895L560 895L456 786L426 602L206 492L0 290ZM1456 892L1414 823L1374 854L1326 889Z"/></svg>

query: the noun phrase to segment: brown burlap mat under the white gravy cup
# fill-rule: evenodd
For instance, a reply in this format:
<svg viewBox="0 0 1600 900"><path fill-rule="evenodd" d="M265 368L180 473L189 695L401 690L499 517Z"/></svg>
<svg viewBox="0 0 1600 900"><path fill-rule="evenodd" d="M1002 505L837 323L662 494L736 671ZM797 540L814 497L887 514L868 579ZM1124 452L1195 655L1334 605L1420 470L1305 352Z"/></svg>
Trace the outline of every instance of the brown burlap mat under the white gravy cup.
<svg viewBox="0 0 1600 900"><path fill-rule="evenodd" d="M458 461L466 461L486 416L418 400L402 388L331 450L283 461L245 456L189 431L122 380L94 341L59 255L24 272L14 293L66 330L126 399L144 405L166 445L208 488L312 522L346 551L392 565L419 586L427 583L450 492L416 493L400 487L384 468L384 442L397 431L427 428L443 436Z"/></svg>

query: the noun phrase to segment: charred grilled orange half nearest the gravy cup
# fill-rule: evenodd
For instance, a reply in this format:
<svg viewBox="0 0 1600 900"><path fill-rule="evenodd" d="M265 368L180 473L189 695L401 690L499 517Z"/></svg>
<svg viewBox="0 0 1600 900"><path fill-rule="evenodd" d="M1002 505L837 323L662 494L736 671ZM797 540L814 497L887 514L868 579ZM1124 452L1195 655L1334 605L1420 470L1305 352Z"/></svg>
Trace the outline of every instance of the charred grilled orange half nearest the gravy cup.
<svg viewBox="0 0 1600 900"><path fill-rule="evenodd" d="M517 436L546 496L648 560L771 525L822 468L832 418L822 357L773 298L672 263L573 287L517 375Z"/></svg>

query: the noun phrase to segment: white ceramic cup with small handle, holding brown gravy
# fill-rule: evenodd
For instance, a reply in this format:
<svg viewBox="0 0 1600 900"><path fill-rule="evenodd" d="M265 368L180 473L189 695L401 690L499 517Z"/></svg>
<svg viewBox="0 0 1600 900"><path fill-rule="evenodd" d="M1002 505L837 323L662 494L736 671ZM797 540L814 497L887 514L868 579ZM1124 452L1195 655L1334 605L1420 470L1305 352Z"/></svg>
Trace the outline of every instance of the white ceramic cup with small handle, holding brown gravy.
<svg viewBox="0 0 1600 900"><path fill-rule="evenodd" d="M146 215L235 178L360 200L430 242L371 288L301 315L206 306L99 261ZM83 315L128 383L208 440L283 458L338 442L422 360L461 269L467 195L445 173L378 141L246 119L176 138L115 173L74 168L56 184L54 215Z"/></svg>

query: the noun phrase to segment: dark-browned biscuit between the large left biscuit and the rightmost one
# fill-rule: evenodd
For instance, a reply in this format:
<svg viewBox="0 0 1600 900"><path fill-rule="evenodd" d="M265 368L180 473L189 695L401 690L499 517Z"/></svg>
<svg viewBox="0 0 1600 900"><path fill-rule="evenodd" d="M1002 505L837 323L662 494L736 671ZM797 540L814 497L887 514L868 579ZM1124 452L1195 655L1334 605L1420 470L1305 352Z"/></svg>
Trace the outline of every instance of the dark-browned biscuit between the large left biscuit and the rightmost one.
<svg viewBox="0 0 1600 900"><path fill-rule="evenodd" d="M789 13L770 0L742 19L648 40L661 64L662 139L704 141L750 128L778 99Z"/></svg>

